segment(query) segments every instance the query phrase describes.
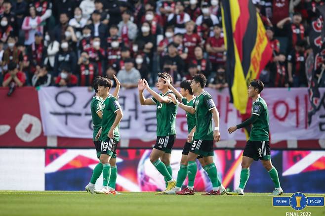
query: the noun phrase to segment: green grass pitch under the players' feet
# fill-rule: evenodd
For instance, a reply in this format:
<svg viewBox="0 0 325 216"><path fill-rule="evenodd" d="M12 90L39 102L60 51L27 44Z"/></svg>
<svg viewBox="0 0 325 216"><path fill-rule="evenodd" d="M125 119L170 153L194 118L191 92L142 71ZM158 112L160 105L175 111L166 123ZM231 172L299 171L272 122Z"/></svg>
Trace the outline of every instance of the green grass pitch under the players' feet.
<svg viewBox="0 0 325 216"><path fill-rule="evenodd" d="M296 212L300 216L300 212L291 207L272 207L272 196L265 193L245 193L244 196L200 195L123 193L114 196L66 191L0 191L0 215L285 216L286 212ZM310 216L324 216L325 207L306 207L302 212L311 212Z"/></svg>

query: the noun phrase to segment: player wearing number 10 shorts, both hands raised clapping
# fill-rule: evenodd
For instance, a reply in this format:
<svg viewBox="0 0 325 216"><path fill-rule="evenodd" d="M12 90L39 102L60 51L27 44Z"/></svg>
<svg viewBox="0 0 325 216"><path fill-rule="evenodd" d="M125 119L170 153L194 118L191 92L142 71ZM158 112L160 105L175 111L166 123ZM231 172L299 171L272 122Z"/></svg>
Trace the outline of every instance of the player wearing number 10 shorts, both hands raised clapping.
<svg viewBox="0 0 325 216"><path fill-rule="evenodd" d="M157 107L157 140L150 154L150 161L167 182L166 190L171 190L176 184L176 181L172 178L170 156L176 137L177 106L167 96L174 93L168 86L162 85L164 83L162 79L168 79L172 83L171 76L167 73L159 73L158 77L157 88L161 93L158 94L152 90L145 79L139 80L139 99L141 105L156 105ZM147 89L153 97L145 98L143 94L144 89ZM164 192L162 191L158 194L164 194Z"/></svg>

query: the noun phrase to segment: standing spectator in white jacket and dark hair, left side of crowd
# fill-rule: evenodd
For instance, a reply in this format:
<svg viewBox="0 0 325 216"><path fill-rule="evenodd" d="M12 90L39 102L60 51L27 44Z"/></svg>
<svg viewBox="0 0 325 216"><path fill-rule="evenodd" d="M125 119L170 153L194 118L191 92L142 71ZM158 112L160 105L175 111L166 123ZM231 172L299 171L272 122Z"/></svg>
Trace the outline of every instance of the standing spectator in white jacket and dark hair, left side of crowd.
<svg viewBox="0 0 325 216"><path fill-rule="evenodd" d="M55 56L60 50L60 43L55 41L55 36L53 32L48 32L45 35L44 48L46 48L45 59L43 64L47 67L50 72L54 70Z"/></svg>

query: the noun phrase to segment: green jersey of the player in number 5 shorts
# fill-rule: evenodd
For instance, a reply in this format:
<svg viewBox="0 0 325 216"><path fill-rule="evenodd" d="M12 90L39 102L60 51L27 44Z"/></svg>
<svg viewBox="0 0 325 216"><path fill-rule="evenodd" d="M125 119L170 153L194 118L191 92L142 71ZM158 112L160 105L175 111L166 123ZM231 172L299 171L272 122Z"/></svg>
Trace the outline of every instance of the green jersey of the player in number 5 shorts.
<svg viewBox="0 0 325 216"><path fill-rule="evenodd" d="M203 91L195 98L196 131L193 139L213 140L212 109L215 108L211 95Z"/></svg>

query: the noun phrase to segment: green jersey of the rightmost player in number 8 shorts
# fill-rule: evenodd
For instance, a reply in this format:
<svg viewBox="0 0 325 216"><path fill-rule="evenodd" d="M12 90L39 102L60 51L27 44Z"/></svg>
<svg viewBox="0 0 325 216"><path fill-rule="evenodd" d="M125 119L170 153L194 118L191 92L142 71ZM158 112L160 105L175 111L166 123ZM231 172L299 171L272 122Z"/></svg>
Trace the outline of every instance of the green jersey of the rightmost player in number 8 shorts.
<svg viewBox="0 0 325 216"><path fill-rule="evenodd" d="M269 141L269 112L263 98L259 97L254 101L252 115L257 115L258 118L250 130L249 140Z"/></svg>

